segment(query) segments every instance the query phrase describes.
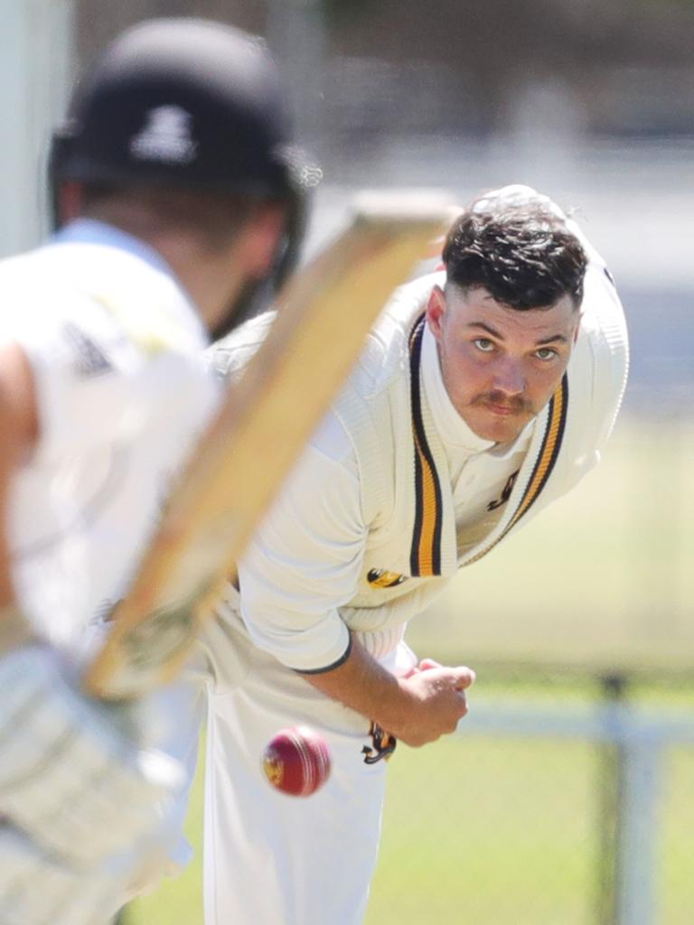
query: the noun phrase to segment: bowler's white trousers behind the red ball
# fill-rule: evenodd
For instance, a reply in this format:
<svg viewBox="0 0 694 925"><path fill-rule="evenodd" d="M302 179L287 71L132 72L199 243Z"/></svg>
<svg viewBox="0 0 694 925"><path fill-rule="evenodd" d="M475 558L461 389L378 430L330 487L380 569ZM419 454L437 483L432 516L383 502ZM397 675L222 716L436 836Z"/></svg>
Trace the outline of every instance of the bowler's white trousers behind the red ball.
<svg viewBox="0 0 694 925"><path fill-rule="evenodd" d="M205 923L358 925L387 762L365 762L373 742L364 717L233 635L233 680L217 685L209 703ZM261 767L272 736L298 723L323 734L332 755L328 783L307 797L275 791Z"/></svg>

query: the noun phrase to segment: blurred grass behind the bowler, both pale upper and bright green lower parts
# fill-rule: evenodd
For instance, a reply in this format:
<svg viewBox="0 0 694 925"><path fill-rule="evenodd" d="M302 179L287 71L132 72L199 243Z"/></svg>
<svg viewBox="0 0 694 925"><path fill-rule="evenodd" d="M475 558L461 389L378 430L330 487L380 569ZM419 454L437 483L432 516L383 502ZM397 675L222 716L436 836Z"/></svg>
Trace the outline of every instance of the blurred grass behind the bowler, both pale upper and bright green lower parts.
<svg viewBox="0 0 694 925"><path fill-rule="evenodd" d="M473 709L500 696L584 702L596 697L592 675L619 668L636 672L639 703L691 713L693 435L621 425L573 496L462 573L415 621L409 638L420 654L478 669ZM604 760L601 748L574 741L462 734L400 746L367 925L602 925ZM657 925L691 922L693 780L694 748L664 756ZM198 783L189 819L198 848L201 808ZM129 925L202 925L200 862L198 850L178 881L130 908Z"/></svg>

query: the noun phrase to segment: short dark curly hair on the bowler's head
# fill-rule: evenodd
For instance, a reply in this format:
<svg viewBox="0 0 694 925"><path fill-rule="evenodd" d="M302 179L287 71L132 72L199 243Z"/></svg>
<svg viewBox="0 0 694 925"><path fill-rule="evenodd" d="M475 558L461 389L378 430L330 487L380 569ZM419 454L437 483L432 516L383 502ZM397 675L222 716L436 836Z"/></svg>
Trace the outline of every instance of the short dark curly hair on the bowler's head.
<svg viewBox="0 0 694 925"><path fill-rule="evenodd" d="M482 286L510 308L549 308L564 295L579 308L588 257L548 205L482 196L453 223L443 263L448 282Z"/></svg>

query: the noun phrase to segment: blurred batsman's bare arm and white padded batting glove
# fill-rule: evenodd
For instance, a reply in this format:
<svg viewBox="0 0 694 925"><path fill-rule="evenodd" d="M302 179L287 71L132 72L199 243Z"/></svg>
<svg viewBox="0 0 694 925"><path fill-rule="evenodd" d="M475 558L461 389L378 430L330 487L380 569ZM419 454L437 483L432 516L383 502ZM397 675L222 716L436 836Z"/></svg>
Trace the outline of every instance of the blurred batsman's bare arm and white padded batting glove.
<svg viewBox="0 0 694 925"><path fill-rule="evenodd" d="M11 489L40 438L35 389L27 354L15 343L0 347L0 835L26 836L37 858L59 857L66 870L93 869L158 830L182 775L167 756L132 744L115 709L75 688L20 610ZM0 868L4 921L14 885L5 862Z"/></svg>

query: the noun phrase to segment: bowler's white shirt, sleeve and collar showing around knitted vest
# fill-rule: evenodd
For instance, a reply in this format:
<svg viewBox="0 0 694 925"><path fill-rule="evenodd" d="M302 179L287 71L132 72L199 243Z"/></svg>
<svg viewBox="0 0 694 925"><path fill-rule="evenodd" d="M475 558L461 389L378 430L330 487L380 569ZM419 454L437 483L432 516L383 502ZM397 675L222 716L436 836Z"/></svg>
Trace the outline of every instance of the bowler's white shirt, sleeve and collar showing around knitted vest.
<svg viewBox="0 0 694 925"><path fill-rule="evenodd" d="M501 496L522 462L533 425L496 453L478 438L452 406L428 328L422 383L446 447L456 523L465 532L489 518L488 499ZM304 670L328 667L347 648L339 609L359 585L366 534L353 445L328 413L240 562L242 618L258 647Z"/></svg>

